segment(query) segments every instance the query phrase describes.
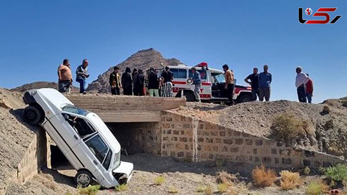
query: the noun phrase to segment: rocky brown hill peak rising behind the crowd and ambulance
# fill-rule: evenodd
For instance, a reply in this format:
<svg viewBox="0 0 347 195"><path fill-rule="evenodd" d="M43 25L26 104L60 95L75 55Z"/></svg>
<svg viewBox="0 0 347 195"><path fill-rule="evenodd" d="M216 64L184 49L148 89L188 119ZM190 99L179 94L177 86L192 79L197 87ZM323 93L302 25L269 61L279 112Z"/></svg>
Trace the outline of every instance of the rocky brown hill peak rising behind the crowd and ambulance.
<svg viewBox="0 0 347 195"><path fill-rule="evenodd" d="M163 58L160 52L155 51L153 48L150 48L146 50L140 50L132 54L128 59L119 63L117 66L120 68L120 73L123 73L126 67L129 67L132 71L134 68L147 70L151 66L159 67L161 63L163 64L163 66L177 66L178 64L182 64L176 58ZM106 72L99 75L98 79L89 84L87 91L99 93L110 92L111 90L109 85L109 75L112 71L113 67L110 67Z"/></svg>

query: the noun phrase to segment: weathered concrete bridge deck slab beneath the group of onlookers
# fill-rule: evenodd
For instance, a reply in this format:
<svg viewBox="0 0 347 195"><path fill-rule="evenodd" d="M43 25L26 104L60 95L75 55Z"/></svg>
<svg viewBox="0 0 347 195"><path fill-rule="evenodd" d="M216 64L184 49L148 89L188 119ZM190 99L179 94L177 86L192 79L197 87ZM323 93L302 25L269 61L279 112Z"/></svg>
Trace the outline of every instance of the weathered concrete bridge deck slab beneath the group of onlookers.
<svg viewBox="0 0 347 195"><path fill-rule="evenodd" d="M186 105L185 98L66 94L77 107L96 113L104 122L159 122L161 111Z"/></svg>

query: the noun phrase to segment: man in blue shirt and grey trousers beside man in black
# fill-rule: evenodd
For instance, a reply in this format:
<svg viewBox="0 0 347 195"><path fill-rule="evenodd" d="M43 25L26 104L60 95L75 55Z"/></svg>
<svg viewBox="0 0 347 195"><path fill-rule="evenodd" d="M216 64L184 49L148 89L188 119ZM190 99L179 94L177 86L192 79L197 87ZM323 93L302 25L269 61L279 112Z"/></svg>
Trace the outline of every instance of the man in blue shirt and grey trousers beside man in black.
<svg viewBox="0 0 347 195"><path fill-rule="evenodd" d="M271 73L268 72L268 65L264 65L264 72L260 73L258 75L258 80L259 80L259 101L263 101L265 97L265 101L270 100L270 85L272 81L272 76Z"/></svg>

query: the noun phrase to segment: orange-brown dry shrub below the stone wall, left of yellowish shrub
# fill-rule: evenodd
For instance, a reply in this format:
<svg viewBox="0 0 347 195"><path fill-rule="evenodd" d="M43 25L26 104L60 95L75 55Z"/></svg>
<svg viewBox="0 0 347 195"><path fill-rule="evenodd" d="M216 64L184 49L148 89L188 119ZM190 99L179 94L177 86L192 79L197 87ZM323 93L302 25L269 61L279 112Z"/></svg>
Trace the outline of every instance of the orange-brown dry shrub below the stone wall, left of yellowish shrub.
<svg viewBox="0 0 347 195"><path fill-rule="evenodd" d="M253 184L257 187L271 186L276 179L276 173L263 165L252 170Z"/></svg>

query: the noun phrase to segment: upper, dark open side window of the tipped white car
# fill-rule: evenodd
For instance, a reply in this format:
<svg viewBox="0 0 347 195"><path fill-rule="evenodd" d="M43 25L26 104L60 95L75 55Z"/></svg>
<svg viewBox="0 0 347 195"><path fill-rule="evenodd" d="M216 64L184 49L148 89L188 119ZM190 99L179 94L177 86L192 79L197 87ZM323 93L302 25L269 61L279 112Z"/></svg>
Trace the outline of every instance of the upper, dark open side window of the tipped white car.
<svg viewBox="0 0 347 195"><path fill-rule="evenodd" d="M95 129L89 124L89 122L82 118L78 118L68 114L63 114L63 116L65 120L67 120L69 124L76 130L76 132L81 138L85 138L88 135L91 135L96 132Z"/></svg>

